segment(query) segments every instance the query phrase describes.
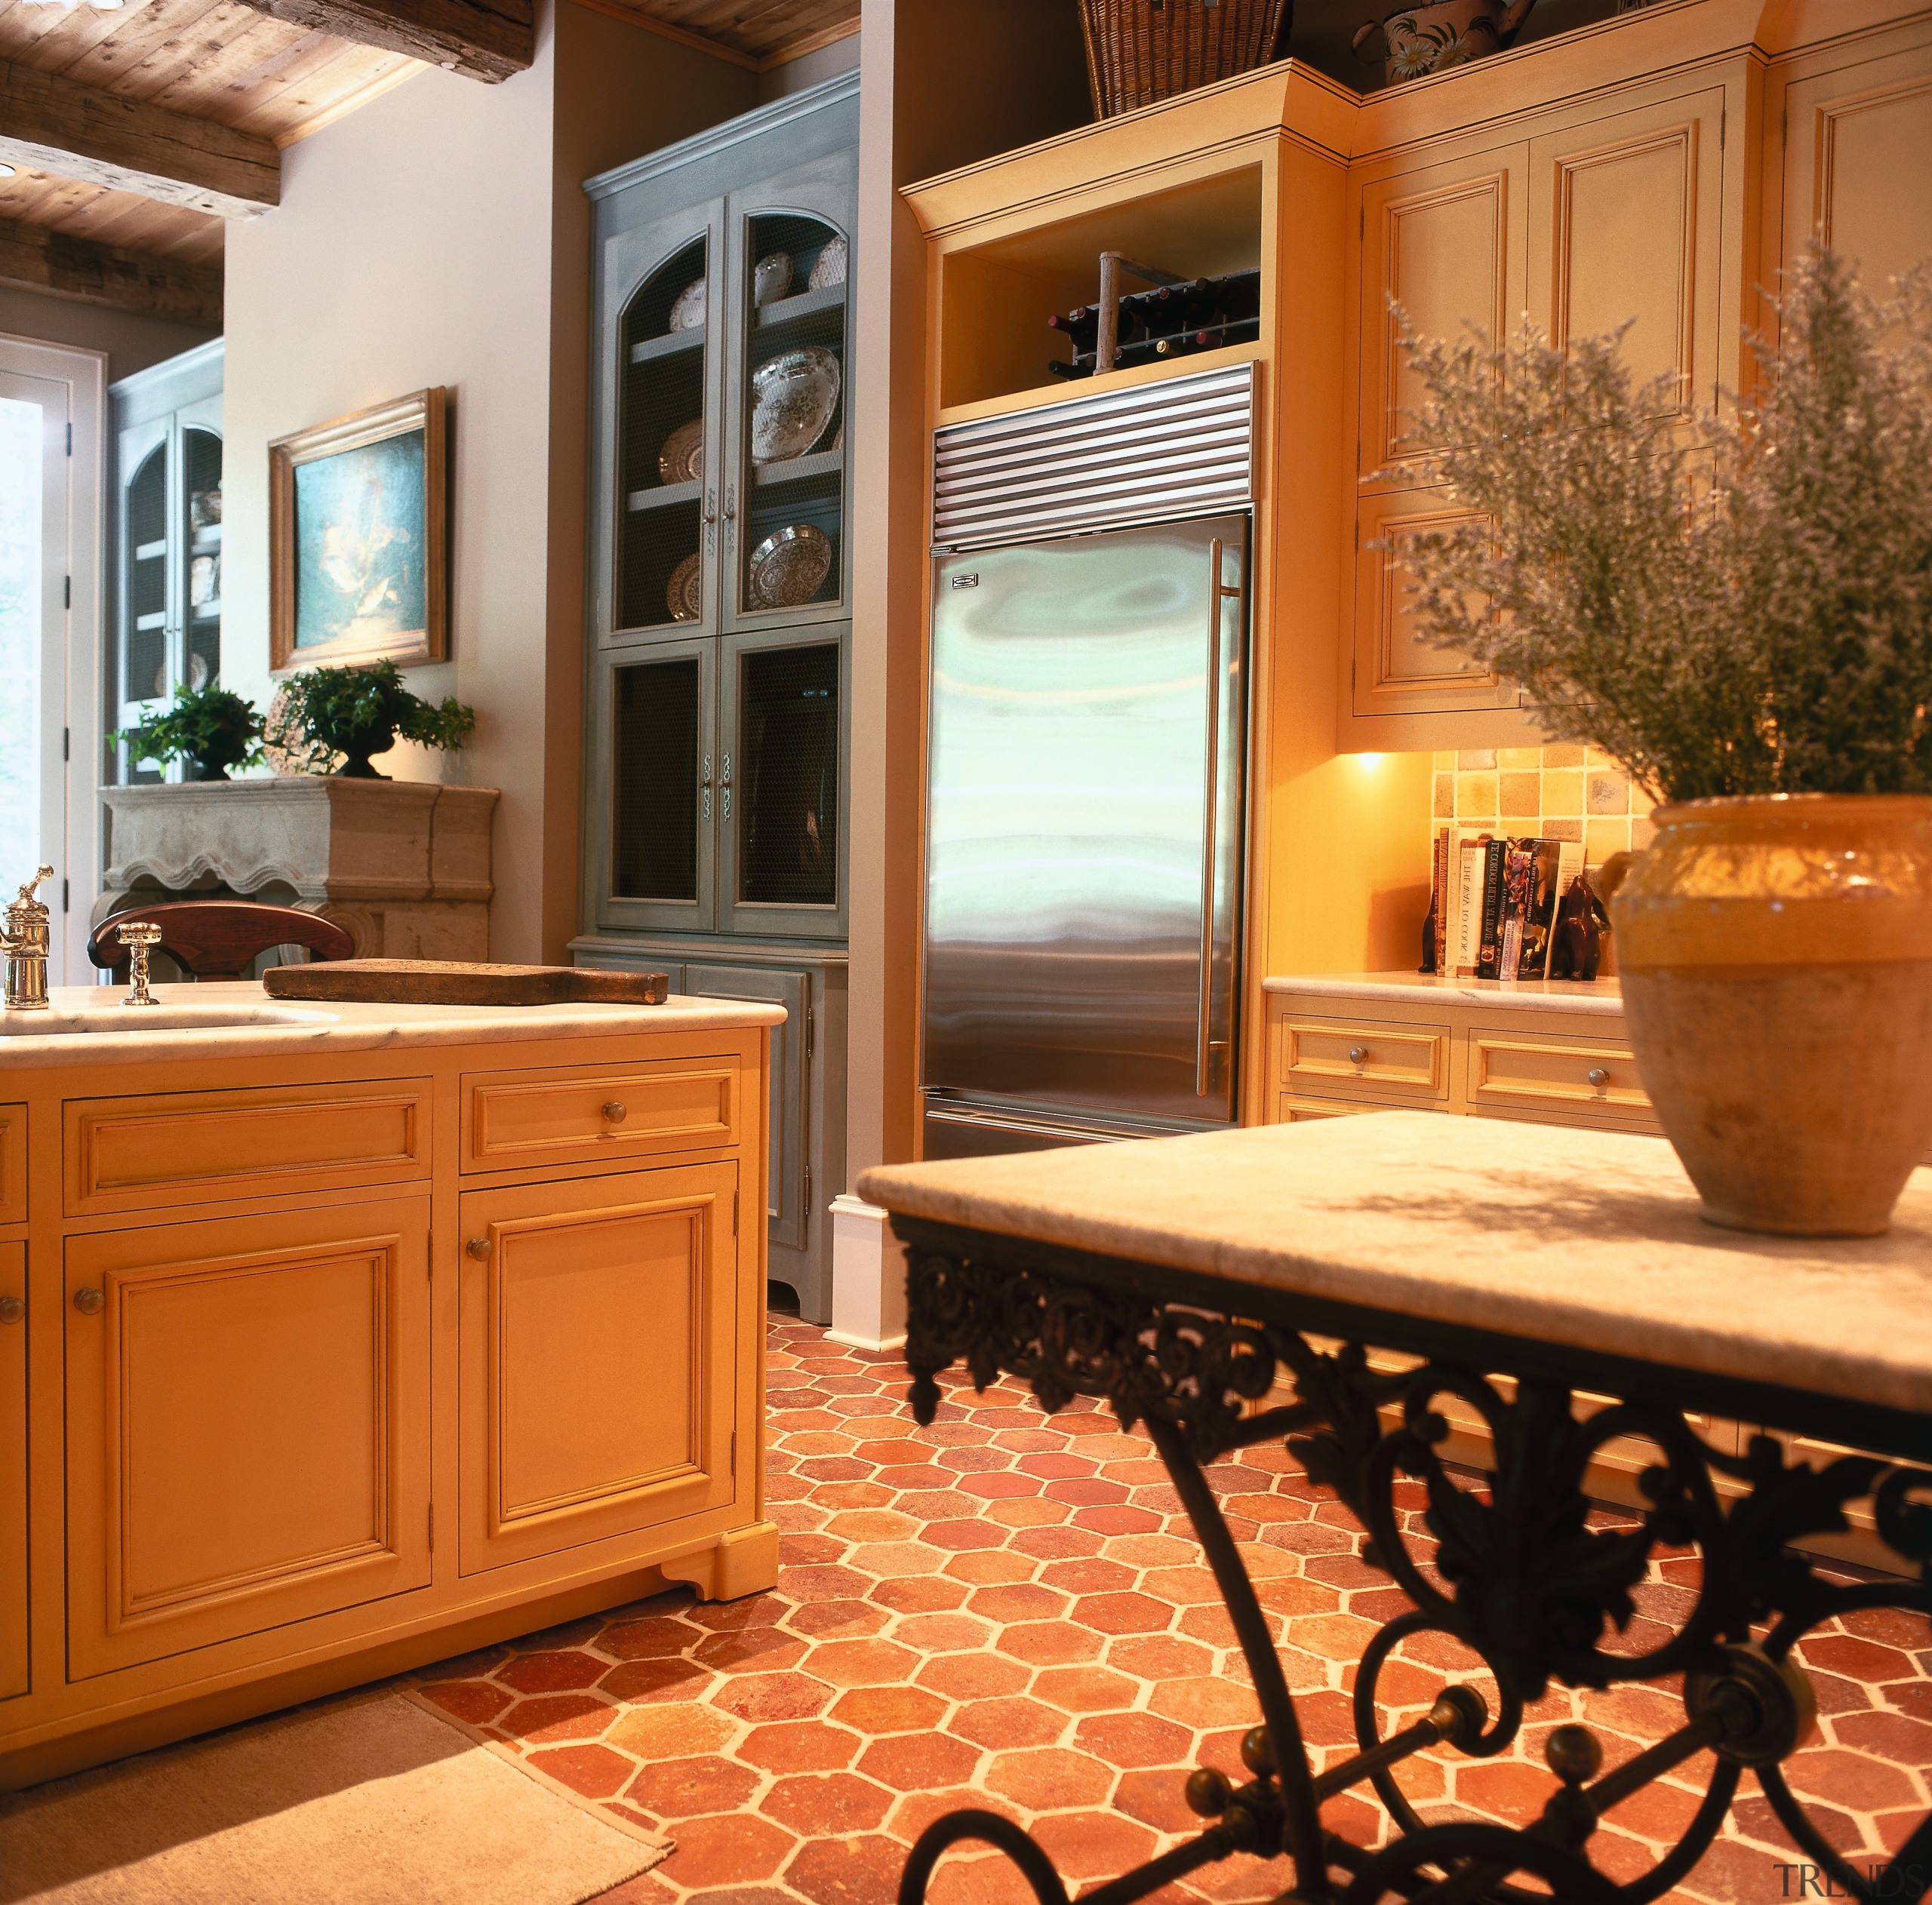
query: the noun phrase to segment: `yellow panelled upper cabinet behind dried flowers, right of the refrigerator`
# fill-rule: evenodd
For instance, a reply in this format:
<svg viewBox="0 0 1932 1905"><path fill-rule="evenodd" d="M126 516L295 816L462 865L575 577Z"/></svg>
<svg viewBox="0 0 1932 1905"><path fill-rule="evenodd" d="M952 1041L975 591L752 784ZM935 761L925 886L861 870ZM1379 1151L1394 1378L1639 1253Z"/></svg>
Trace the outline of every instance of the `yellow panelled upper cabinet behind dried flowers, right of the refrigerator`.
<svg viewBox="0 0 1932 1905"><path fill-rule="evenodd" d="M1511 686L1414 626L1403 541L1466 510L1426 481L1414 415L1426 392L1406 363L1403 319L1422 338L1451 340L1505 334L1524 315L1557 344L1621 330L1631 369L1669 379L1665 402L1685 415L1737 381L1750 174L1731 128L1743 133L1754 112L1752 58L1604 85L1604 56L1621 43L1598 39L1598 85L1503 124L1410 139L1403 133L1428 126L1424 106L1439 112L1441 99L1364 108L1391 149L1350 168L1358 408L1345 748L1534 738ZM1519 68L1530 60L1517 56Z"/></svg>

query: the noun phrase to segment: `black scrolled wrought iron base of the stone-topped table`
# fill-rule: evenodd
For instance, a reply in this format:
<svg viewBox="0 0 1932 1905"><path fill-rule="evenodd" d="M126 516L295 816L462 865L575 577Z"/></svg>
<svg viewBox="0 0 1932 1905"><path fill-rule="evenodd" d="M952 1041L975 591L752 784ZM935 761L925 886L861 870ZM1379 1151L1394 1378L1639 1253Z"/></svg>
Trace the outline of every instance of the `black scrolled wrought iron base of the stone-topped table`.
<svg viewBox="0 0 1932 1905"><path fill-rule="evenodd" d="M1084 1905L1128 1905L1204 1864L1248 1853L1287 1855L1302 1905L1416 1905L1509 1901L1548 1905L1648 1905L1683 1880L1716 1839L1750 1770L1793 1841L1839 1888L1837 1895L1917 1905L1932 1893L1932 1814L1884 1866L1859 1870L1837 1853L1791 1793L1781 1762L1812 1729L1814 1706L1793 1646L1818 1623L1864 1607L1932 1615L1932 1470L1876 1455L1847 1455L1820 1470L1787 1464L1772 1436L1743 1455L1708 1447L1685 1420L1710 1407L1698 1389L1712 1379L1689 1372L1625 1370L1650 1391L1575 1418L1573 1378L1594 1393L1611 1389L1604 1358L1565 1356L1507 1337L1478 1337L1406 1320L1343 1314L1273 1293L1244 1293L1233 1320L1227 1285L1153 1265L1026 1244L1018 1238L895 1219L908 1244L906 1364L910 1401L922 1424L937 1412L933 1379L964 1360L983 1389L1001 1372L1032 1385L1051 1414L1076 1395L1113 1405L1122 1428L1144 1424L1194 1524L1235 1636L1254 1679L1262 1725L1242 1741L1250 1779L1236 1787L1202 1768L1186 1801L1211 1820L1192 1841L1086 1893ZM1341 1325L1341 1327L1337 1327ZM1341 1337L1335 1349L1310 1331ZM1399 1341L1408 1335L1410 1341ZM1405 1374L1370 1368L1366 1345L1418 1349L1420 1339L1455 1339L1453 1358L1428 1356ZM1480 1352L1480 1354L1478 1354ZM1244 1414L1267 1397L1277 1370L1296 1401ZM1492 1374L1515 1378L1505 1393ZM1719 1389L1723 1385L1718 1385ZM1675 1399L1671 1391L1677 1391ZM1743 1391L1750 1391L1748 1395ZM1447 1422L1435 1403L1457 1397L1476 1408L1495 1445L1488 1499L1459 1486L1437 1445ZM1731 1383L1718 1397L1756 1403L1750 1420L1816 1428L1816 1397ZM1884 1410L1824 1405L1824 1418L1859 1416L1861 1439L1911 1459L1932 1457L1932 1424ZM1383 1420L1399 1410L1393 1426ZM1839 1432L1843 1434L1843 1430ZM1648 1511L1636 1528L1588 1526L1582 1484L1598 1451L1615 1437L1652 1443L1660 1461L1640 1478ZM1362 1557L1389 1573L1414 1604L1370 1642L1354 1687L1358 1750L1316 1774L1294 1700L1275 1654L1267 1617L1204 1474L1204 1463L1285 1437L1310 1480L1333 1488L1362 1522ZM1426 1526L1443 1592L1416 1563L1395 1509L1399 1476L1428 1492ZM1748 1484L1729 1507L1714 1476ZM1845 1584L1822 1577L1789 1544L1847 1528L1845 1505L1870 1495L1878 1532L1911 1571L1897 1580ZM1683 1625L1644 1654L1605 1652L1605 1629L1634 1613L1633 1588L1656 1548L1694 1546L1702 1559L1696 1604ZM1754 1631L1760 1638L1752 1638ZM1378 1735L1376 1687L1389 1656L1418 1633L1441 1633L1472 1650L1497 1685L1492 1716L1482 1694L1451 1685L1432 1712L1389 1739ZM1493 1824L1426 1824L1403 1797L1393 1768L1426 1747L1447 1745L1472 1758L1507 1750L1522 1712L1551 1681L1605 1689L1683 1673L1685 1721L1665 1739L1602 1774L1602 1747L1582 1725L1557 1727L1546 1758L1557 1776L1542 1818L1522 1830ZM1677 1845L1648 1874L1617 1884L1588 1859L1598 1820L1650 1781L1710 1749L1704 1799ZM1323 1832L1323 1799L1368 1781L1395 1834L1379 1851ZM906 1861L898 1905L923 1905L939 1857L976 1839L1005 1853L1039 1905L1066 1905L1051 1859L1010 1820L966 1808L929 1826ZM1511 1884L1534 1876L1548 1891Z"/></svg>

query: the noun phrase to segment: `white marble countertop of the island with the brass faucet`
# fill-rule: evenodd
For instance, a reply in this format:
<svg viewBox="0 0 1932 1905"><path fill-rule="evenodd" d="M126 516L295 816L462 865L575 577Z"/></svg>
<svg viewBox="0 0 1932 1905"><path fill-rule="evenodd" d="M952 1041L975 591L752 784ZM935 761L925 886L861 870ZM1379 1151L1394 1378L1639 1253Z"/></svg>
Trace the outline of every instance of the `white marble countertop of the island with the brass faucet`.
<svg viewBox="0 0 1932 1905"><path fill-rule="evenodd" d="M0 1012L0 1070L307 1057L400 1045L711 1032L784 1022L784 1007L779 1005L684 999L676 993L663 1005L321 1005L270 999L255 981L226 980L156 985L158 1007L124 1007L124 997L118 985L56 985L46 1012Z"/></svg>

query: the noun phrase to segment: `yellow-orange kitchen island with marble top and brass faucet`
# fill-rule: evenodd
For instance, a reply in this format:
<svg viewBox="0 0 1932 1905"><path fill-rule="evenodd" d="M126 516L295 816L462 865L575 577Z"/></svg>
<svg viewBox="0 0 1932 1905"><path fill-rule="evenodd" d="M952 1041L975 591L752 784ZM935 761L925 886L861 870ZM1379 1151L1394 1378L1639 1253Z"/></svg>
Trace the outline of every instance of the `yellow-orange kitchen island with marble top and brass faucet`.
<svg viewBox="0 0 1932 1905"><path fill-rule="evenodd" d="M0 1022L0 1787L771 1586L779 1009L156 997Z"/></svg>

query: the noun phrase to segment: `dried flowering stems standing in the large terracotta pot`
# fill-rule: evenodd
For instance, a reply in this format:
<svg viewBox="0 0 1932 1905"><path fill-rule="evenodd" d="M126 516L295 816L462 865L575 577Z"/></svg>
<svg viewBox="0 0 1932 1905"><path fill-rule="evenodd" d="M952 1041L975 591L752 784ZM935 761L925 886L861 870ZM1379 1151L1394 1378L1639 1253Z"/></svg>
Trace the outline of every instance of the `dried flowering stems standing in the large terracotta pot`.
<svg viewBox="0 0 1932 1905"><path fill-rule="evenodd" d="M1416 441L1480 520L1418 535L1430 640L1663 800L1932 790L1932 261L1814 249L1758 384L1687 419L1619 336L1406 336Z"/></svg>

